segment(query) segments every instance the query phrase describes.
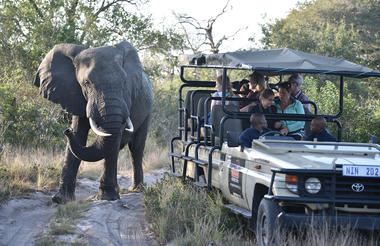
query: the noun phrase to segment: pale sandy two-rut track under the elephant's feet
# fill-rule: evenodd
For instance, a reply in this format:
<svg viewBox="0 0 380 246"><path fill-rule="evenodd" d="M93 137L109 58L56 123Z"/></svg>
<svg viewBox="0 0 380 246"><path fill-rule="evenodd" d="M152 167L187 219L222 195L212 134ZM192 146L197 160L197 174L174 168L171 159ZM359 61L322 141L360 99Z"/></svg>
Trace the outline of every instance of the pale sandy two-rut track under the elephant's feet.
<svg viewBox="0 0 380 246"><path fill-rule="evenodd" d="M163 170L145 174L145 182L153 184ZM128 188L131 180L119 178L119 186ZM96 194L98 181L80 179L77 200ZM36 245L48 235L49 224L57 210L53 193L35 192L10 200L0 208L0 245ZM82 245L158 245L149 232L142 205L142 193L121 195L118 201L92 201L84 217L75 221L75 234L55 236L57 242Z"/></svg>

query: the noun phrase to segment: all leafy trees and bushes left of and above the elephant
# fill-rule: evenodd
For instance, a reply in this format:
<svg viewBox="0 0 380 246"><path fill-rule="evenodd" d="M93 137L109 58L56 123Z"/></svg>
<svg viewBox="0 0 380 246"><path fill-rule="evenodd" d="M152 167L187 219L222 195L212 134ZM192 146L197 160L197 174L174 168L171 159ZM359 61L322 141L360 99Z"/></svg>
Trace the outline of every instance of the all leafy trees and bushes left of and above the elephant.
<svg viewBox="0 0 380 246"><path fill-rule="evenodd" d="M32 86L57 43L87 47L130 41L149 54L182 47L173 29L155 30L137 10L145 0L0 0L0 147L64 146L66 113ZM168 56L168 59L172 56Z"/></svg>

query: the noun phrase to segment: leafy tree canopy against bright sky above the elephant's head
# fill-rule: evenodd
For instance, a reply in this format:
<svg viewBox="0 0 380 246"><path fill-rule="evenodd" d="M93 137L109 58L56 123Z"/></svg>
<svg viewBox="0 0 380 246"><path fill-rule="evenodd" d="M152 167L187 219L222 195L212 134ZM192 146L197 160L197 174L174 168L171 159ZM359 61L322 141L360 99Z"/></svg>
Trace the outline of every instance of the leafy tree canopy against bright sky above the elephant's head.
<svg viewBox="0 0 380 246"><path fill-rule="evenodd" d="M145 0L0 0L0 65L14 64L32 76L57 43L87 47L130 41L138 50L167 52L181 43L173 30L153 28L135 13Z"/></svg>

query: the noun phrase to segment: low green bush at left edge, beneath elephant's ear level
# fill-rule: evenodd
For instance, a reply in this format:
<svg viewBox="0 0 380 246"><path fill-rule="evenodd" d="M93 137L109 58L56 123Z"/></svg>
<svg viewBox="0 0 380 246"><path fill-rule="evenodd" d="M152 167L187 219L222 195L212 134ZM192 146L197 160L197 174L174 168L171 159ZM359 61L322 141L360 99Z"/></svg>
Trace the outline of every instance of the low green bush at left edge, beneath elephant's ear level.
<svg viewBox="0 0 380 246"><path fill-rule="evenodd" d="M64 114L31 84L25 84L24 75L16 69L0 78L0 145L62 148Z"/></svg>

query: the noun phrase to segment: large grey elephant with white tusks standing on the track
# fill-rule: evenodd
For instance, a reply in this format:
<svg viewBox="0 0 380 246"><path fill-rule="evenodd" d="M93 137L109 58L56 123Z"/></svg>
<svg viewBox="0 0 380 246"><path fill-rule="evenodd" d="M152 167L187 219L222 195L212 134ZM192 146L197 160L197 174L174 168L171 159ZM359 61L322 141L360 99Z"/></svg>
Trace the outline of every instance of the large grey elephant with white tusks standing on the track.
<svg viewBox="0 0 380 246"><path fill-rule="evenodd" d="M103 162L96 198L120 199L117 183L119 151L128 144L133 181L141 189L142 160L153 108L153 89L129 42L85 48L57 44L38 67L34 85L40 95L72 114L65 159L55 203L75 200L76 176L81 161ZM96 138L86 147L89 130Z"/></svg>

